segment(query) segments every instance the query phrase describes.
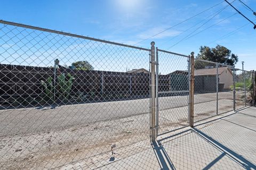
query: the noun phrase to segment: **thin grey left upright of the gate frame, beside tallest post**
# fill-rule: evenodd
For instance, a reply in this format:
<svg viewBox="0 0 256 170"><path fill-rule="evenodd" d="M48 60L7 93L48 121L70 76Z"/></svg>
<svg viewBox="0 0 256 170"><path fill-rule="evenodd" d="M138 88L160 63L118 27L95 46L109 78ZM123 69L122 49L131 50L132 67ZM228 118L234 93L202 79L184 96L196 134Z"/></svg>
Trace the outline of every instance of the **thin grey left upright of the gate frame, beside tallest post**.
<svg viewBox="0 0 256 170"><path fill-rule="evenodd" d="M158 136L158 48L156 47L156 137Z"/></svg>

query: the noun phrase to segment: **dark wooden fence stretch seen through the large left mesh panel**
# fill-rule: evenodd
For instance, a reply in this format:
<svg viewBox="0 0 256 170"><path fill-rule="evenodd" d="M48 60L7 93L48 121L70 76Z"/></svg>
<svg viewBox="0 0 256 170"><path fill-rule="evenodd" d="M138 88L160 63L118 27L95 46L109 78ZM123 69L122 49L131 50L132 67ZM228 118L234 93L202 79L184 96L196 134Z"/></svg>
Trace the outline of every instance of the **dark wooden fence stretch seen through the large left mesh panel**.
<svg viewBox="0 0 256 170"><path fill-rule="evenodd" d="M27 98L42 98L44 87L41 81L54 79L54 68L15 66L0 64L1 103L10 103ZM87 97L107 96L121 98L131 94L149 95L149 74L97 70L72 70L59 68L56 76L70 74L75 79L70 94L88 94ZM118 94L118 96L116 96ZM78 94L77 94L78 95ZM95 99L93 99L95 101Z"/></svg>

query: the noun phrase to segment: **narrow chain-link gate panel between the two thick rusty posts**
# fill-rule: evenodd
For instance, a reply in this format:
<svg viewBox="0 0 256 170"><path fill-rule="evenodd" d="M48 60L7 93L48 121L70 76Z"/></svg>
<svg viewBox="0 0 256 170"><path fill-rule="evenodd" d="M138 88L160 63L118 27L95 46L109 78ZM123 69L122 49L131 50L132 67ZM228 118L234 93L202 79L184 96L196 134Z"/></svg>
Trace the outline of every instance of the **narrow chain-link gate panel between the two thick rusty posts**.
<svg viewBox="0 0 256 170"><path fill-rule="evenodd" d="M190 64L187 55L158 48L156 63L156 135L160 135L188 126Z"/></svg>

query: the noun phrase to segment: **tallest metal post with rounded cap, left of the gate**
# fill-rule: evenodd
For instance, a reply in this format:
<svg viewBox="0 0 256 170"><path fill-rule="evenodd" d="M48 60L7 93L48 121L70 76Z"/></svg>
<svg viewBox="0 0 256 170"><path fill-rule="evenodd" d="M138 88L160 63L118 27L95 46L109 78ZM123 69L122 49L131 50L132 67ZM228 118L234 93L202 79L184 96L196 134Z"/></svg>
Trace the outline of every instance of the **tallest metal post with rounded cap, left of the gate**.
<svg viewBox="0 0 256 170"><path fill-rule="evenodd" d="M155 42L151 42L151 141L156 141L156 74L155 74Z"/></svg>

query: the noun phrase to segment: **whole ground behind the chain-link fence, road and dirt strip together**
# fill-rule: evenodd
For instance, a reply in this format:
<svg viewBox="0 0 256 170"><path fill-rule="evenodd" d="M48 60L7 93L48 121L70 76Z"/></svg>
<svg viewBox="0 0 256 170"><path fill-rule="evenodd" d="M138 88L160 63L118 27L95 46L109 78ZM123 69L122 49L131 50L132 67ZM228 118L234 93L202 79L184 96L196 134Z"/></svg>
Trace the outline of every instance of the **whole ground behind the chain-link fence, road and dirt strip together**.
<svg viewBox="0 0 256 170"><path fill-rule="evenodd" d="M219 113L233 109L232 97L219 93ZM195 119L214 116L215 100L215 93L196 94ZM187 105L188 96L159 98L159 132L186 126ZM1 169L59 169L81 159L94 165L98 158L106 160L101 166L109 163L111 144L125 157L145 149L150 135L149 99L1 110L0 121Z"/></svg>

